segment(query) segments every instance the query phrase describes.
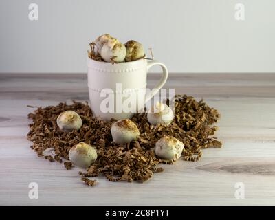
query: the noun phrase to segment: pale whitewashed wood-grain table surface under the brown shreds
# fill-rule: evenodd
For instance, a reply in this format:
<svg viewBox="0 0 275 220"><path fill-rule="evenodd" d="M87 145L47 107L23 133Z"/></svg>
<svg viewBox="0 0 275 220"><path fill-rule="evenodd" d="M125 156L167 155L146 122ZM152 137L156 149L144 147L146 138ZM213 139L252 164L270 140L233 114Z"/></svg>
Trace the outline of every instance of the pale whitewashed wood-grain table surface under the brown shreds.
<svg viewBox="0 0 275 220"><path fill-rule="evenodd" d="M158 77L148 76L148 86ZM0 205L274 206L275 74L170 74L165 87L219 109L223 147L203 150L199 162L165 165L144 184L99 177L90 188L78 169L37 157L26 137L27 105L89 100L85 74L0 74ZM30 182L39 199L28 197ZM244 199L235 197L240 182Z"/></svg>

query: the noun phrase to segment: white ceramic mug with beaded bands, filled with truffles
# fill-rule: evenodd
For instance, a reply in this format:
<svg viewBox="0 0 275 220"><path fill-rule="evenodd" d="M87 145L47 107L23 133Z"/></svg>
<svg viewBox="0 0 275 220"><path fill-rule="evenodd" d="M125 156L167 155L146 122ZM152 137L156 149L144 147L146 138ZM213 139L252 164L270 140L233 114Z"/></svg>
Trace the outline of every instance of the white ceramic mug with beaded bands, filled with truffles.
<svg viewBox="0 0 275 220"><path fill-rule="evenodd" d="M88 58L87 65L91 110L104 120L131 118L157 94L168 78L163 63L143 58L114 64ZM162 78L154 89L146 93L147 72L153 65L162 67Z"/></svg>

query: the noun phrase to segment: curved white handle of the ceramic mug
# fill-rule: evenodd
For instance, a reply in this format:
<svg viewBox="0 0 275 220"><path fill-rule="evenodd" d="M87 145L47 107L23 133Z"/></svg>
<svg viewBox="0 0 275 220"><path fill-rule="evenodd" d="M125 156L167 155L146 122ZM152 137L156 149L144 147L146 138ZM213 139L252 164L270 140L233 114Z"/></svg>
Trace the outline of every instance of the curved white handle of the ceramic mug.
<svg viewBox="0 0 275 220"><path fill-rule="evenodd" d="M159 83L157 83L157 86L155 88L153 88L151 92L149 92L148 94L146 94L144 104L146 104L146 102L148 102L148 100L151 100L151 98L153 98L153 96L155 96L155 94L157 94L157 92L159 91L159 89L161 89L164 86L164 83L166 83L166 80L168 78L167 67L163 63L161 63L159 61L148 61L147 72L154 65L159 65L159 66L162 67L162 78L159 80Z"/></svg>

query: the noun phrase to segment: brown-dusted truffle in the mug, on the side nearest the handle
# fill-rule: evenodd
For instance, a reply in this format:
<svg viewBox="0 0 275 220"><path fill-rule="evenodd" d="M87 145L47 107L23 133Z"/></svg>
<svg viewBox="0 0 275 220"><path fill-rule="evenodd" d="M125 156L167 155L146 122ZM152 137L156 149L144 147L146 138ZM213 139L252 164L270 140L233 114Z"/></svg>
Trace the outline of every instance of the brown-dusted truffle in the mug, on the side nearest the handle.
<svg viewBox="0 0 275 220"><path fill-rule="evenodd" d="M126 56L125 56L125 61L136 61L139 58L144 57L145 52L144 48L141 43L137 41L128 41L125 43L126 47Z"/></svg>

